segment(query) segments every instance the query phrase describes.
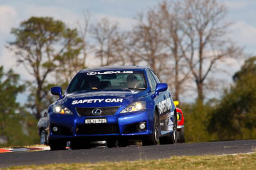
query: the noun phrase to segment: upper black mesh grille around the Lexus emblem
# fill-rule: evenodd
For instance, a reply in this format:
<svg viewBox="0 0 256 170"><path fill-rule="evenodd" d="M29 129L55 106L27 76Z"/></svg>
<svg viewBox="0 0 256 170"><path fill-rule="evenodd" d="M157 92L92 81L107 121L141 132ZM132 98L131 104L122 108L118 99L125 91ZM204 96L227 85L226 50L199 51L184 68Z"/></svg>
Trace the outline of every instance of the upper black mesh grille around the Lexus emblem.
<svg viewBox="0 0 256 170"><path fill-rule="evenodd" d="M98 116L115 115L116 110L118 110L118 108L119 108L119 106L98 108L102 111L102 113ZM92 110L94 110L94 109L96 109L96 108L76 108L76 111L77 111L78 115L80 115L80 116L84 116L84 117L93 116L93 117L95 117L95 115L92 114Z"/></svg>

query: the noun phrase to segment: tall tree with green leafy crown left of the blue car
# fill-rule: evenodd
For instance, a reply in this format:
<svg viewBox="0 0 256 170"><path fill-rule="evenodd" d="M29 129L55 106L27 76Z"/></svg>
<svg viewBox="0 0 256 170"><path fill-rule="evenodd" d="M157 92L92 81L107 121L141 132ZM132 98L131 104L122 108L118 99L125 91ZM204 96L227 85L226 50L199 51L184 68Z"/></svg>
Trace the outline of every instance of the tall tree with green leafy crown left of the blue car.
<svg viewBox="0 0 256 170"><path fill-rule="evenodd" d="M33 85L31 105L35 108L36 118L41 117L46 109L42 103L49 89L45 91L47 77L56 69L65 69L66 59L76 60L83 40L78 37L76 29L68 27L60 20L51 17L31 17L11 33L15 41L8 43L8 48L15 52L17 62L21 63L35 83Z"/></svg>

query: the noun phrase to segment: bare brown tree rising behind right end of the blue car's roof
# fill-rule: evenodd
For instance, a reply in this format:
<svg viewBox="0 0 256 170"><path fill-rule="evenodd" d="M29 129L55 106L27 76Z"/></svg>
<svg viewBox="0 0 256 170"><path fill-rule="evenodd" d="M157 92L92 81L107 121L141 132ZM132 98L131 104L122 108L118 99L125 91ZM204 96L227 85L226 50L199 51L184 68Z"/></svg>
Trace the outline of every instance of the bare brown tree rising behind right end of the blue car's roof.
<svg viewBox="0 0 256 170"><path fill-rule="evenodd" d="M191 77L180 46L185 41L183 18L179 3L163 1L146 14L139 14L129 43L131 62L152 67L171 87L176 100Z"/></svg>

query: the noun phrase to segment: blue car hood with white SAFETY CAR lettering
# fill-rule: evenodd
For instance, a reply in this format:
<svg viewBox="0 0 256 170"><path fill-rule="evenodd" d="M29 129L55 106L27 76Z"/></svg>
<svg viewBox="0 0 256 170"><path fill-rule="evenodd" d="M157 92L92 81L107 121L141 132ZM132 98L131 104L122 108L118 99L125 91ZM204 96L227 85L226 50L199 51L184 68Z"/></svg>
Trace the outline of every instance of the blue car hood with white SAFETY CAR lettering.
<svg viewBox="0 0 256 170"><path fill-rule="evenodd" d="M124 91L89 91L67 94L62 102L66 106L83 107L104 107L127 105L134 101L140 101L147 95L146 91L124 90Z"/></svg>

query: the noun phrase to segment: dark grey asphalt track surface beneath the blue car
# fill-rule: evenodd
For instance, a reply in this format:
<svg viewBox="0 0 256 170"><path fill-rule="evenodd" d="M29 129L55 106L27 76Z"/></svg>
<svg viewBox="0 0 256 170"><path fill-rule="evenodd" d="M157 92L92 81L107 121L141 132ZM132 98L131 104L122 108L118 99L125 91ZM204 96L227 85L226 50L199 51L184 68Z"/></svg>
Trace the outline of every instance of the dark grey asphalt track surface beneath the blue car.
<svg viewBox="0 0 256 170"><path fill-rule="evenodd" d="M256 151L256 139L39 152L0 153L0 167L58 163L164 159L173 155L223 155Z"/></svg>

